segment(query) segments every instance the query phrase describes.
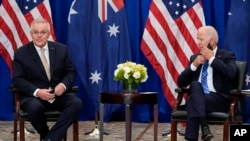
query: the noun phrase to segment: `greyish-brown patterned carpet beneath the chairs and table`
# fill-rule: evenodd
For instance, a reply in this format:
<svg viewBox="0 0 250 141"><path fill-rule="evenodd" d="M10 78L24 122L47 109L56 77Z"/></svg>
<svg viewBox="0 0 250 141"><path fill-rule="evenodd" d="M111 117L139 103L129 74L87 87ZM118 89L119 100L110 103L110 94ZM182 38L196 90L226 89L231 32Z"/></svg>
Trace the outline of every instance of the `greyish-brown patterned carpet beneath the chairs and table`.
<svg viewBox="0 0 250 141"><path fill-rule="evenodd" d="M52 126L54 123L48 123ZM28 129L34 130L32 126L26 122L25 125ZM132 123L132 141L153 141L153 123ZM212 140L220 141L222 140L223 128L221 125L211 125L211 131L214 135ZM80 121L79 122L79 141L98 141L98 134L91 132L95 129L94 121ZM104 129L109 135L104 135L104 141L125 141L125 122L108 122L105 123ZM178 127L180 131L184 131L185 128L181 125ZM170 136L162 136L162 132L169 131L169 123L159 123L158 124L158 141L170 141ZM0 121L0 141L13 141L13 122L12 121ZM94 130L99 131L99 130ZM39 135L37 133L26 134L26 141L39 141ZM72 141L72 128L68 131L67 136L68 141ZM183 136L178 135L178 141L185 141Z"/></svg>

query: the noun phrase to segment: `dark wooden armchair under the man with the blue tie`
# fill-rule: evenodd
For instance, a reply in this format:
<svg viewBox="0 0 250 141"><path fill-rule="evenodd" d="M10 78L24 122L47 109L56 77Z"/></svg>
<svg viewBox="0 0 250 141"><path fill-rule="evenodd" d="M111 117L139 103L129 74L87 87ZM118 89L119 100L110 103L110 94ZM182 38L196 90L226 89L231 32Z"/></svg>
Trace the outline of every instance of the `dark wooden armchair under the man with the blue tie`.
<svg viewBox="0 0 250 141"><path fill-rule="evenodd" d="M241 89L245 84L245 76L246 76L246 66L247 62L236 61L237 66L237 78L235 80L235 89L230 91L232 95L232 101L230 104L230 111L227 113L224 112L212 112L207 116L207 121L209 123L215 124L223 124L223 141L228 141L229 137L229 124L241 124L242 117L240 114L236 114L240 112L240 109L237 106L239 104L239 96L241 94ZM177 122L184 122L187 118L187 111L185 109L181 109L181 102L184 98L184 94L188 92L188 89L175 89L175 92L178 93L176 104L174 110L171 114L171 141L177 140Z"/></svg>

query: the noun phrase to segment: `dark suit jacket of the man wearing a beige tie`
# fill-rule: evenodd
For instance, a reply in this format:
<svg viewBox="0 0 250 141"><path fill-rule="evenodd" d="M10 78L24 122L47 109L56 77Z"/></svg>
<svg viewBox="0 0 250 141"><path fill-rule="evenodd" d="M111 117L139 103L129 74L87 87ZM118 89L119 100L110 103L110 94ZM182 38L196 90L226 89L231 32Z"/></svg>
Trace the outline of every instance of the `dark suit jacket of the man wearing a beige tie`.
<svg viewBox="0 0 250 141"><path fill-rule="evenodd" d="M14 53L13 85L21 91L21 103L33 97L37 88L54 88L59 83L63 83L66 90L72 87L75 80L75 68L66 46L49 41L48 48L50 81L33 42L18 48Z"/></svg>

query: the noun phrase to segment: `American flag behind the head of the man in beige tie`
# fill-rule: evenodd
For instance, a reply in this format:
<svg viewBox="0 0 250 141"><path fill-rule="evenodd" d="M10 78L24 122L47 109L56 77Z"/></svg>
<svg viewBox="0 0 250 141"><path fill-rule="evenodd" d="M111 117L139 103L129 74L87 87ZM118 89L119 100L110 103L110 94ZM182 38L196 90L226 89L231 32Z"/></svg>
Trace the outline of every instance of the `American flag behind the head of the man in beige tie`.
<svg viewBox="0 0 250 141"><path fill-rule="evenodd" d="M0 7L0 55L9 69L14 51L31 40L31 22L43 17L51 23L50 40L55 40L49 0L2 0Z"/></svg>

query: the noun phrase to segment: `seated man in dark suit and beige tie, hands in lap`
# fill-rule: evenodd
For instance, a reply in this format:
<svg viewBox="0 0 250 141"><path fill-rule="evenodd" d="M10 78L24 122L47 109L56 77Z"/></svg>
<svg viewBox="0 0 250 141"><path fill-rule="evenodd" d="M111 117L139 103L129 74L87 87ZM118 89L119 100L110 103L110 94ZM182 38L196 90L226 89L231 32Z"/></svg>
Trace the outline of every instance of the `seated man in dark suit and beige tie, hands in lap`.
<svg viewBox="0 0 250 141"><path fill-rule="evenodd" d="M28 112L41 140L61 141L82 108L81 100L69 91L75 68L67 48L48 41L50 25L46 20L34 20L30 35L32 41L14 53L13 84L21 91L21 108ZM62 112L50 130L43 116L46 110Z"/></svg>

